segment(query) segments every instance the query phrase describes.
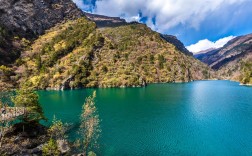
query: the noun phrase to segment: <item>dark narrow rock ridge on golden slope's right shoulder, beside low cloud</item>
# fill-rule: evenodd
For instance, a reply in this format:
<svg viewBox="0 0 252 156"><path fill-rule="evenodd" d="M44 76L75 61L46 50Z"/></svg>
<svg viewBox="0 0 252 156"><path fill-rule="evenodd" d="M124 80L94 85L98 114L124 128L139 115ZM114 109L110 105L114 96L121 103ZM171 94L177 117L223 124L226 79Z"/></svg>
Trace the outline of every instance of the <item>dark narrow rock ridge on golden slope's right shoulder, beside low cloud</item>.
<svg viewBox="0 0 252 156"><path fill-rule="evenodd" d="M186 49L186 47L184 46L184 44L183 44L180 40L178 40L176 36L172 36L172 35L162 35L162 34L161 34L161 37L162 37L163 39L165 39L167 42L169 42L169 43L175 45L176 48L177 48L179 51L183 52L184 54L193 56L193 53L189 52L189 51Z"/></svg>

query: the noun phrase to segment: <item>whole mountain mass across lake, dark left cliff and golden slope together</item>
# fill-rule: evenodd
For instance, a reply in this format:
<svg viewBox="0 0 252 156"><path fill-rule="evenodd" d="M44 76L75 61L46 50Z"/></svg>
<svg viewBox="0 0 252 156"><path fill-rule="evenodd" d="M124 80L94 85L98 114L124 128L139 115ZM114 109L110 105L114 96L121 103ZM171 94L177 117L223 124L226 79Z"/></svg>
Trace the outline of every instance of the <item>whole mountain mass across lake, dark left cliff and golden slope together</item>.
<svg viewBox="0 0 252 156"><path fill-rule="evenodd" d="M1 2L10 10L2 11L0 24L12 36L7 34L3 42L17 50L16 39L21 56L0 66L0 88L24 82L56 90L136 87L214 77L177 38L144 24L82 13L70 0ZM5 23L7 14L11 20Z"/></svg>

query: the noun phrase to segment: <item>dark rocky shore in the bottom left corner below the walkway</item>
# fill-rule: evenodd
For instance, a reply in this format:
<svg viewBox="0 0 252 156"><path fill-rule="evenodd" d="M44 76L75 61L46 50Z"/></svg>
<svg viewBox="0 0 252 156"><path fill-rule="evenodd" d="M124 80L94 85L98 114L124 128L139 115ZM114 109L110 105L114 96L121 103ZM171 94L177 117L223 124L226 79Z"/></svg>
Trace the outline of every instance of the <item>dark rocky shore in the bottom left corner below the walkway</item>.
<svg viewBox="0 0 252 156"><path fill-rule="evenodd" d="M0 155L42 155L43 144L48 140L47 127L17 124L3 138Z"/></svg>

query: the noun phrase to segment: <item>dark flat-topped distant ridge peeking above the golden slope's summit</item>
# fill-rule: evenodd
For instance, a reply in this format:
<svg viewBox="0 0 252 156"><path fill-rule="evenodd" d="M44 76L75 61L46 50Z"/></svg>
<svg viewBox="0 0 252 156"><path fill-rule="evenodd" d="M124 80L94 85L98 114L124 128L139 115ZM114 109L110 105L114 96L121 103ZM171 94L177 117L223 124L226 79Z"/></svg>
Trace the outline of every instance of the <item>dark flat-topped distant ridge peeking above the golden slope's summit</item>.
<svg viewBox="0 0 252 156"><path fill-rule="evenodd" d="M124 19L119 17L108 17L103 15L96 15L85 13L88 19L94 21L98 27L118 27L128 24Z"/></svg>

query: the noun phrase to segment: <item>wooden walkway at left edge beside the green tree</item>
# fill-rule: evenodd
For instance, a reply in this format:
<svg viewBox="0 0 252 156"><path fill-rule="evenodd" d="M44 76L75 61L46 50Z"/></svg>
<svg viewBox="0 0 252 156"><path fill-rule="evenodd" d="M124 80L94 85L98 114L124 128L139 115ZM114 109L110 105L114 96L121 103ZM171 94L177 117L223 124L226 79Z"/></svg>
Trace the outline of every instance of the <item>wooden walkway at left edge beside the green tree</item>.
<svg viewBox="0 0 252 156"><path fill-rule="evenodd" d="M4 112L2 110L3 108L0 111L0 122L15 120L26 112L24 107L6 107Z"/></svg>

